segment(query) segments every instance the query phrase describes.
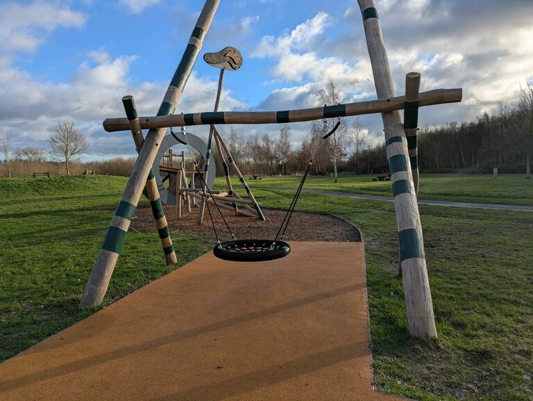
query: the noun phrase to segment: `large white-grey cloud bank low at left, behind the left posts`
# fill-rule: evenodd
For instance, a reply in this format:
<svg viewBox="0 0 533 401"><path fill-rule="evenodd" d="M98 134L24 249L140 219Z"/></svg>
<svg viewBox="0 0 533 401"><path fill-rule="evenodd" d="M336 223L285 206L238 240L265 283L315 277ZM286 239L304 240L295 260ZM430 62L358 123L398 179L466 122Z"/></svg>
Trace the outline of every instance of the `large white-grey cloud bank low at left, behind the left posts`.
<svg viewBox="0 0 533 401"><path fill-rule="evenodd" d="M9 116L1 125L12 126L15 133L13 147L27 146L33 140L35 147L46 148L49 134L46 129L57 120L70 117L90 140L90 153L102 155L133 155L135 149L130 136L123 133L105 133L102 122L108 117L124 115L121 98L133 95L139 115L155 115L167 90L168 82L144 82L133 85L129 70L137 56L112 58L103 51L93 51L67 83L35 81L19 70L9 67L0 58L0 115ZM6 77L6 79L1 79ZM189 78L176 113L212 111L217 93L217 81L198 77L195 72ZM221 110L244 108L245 104L232 97L230 90L223 90ZM24 130L17 129L21 125ZM205 131L194 129L194 133ZM19 142L17 142L19 141Z"/></svg>

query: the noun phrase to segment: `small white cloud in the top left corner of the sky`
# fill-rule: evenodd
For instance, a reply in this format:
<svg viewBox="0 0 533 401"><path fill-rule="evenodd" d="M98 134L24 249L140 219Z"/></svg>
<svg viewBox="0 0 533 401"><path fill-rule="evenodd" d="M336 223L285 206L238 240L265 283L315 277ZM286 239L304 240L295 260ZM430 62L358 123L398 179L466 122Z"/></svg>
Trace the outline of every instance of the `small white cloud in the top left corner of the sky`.
<svg viewBox="0 0 533 401"><path fill-rule="evenodd" d="M33 52L57 28L80 28L85 17L48 3L0 6L0 50Z"/></svg>

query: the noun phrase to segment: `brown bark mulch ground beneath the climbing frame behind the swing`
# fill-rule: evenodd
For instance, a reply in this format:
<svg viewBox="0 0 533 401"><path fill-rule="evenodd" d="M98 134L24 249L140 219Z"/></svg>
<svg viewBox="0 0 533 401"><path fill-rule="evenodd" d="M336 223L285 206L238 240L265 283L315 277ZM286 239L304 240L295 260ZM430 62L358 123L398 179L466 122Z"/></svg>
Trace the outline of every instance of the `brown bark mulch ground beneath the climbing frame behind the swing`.
<svg viewBox="0 0 533 401"><path fill-rule="evenodd" d="M182 213L181 218L176 218L176 206L164 205L164 213L167 216L169 230L173 236L177 233L198 234L214 238L210 216L207 208L202 224L198 224L198 208L192 208L191 213L186 210ZM211 206L211 212L219 238L221 241L230 240L226 224L214 206ZM228 222L230 229L238 239L248 238L266 238L273 239L280 224L285 218L284 210L264 208L263 213L267 221L258 218L247 217L243 215L236 216L232 211L223 209L222 213ZM139 232L155 232L155 222L153 220L150 205L147 203L139 204L135 211L135 218L131 220L130 229ZM309 241L309 242L361 242L359 230L334 215L307 213L295 211L291 217L289 227L285 233L287 241Z"/></svg>

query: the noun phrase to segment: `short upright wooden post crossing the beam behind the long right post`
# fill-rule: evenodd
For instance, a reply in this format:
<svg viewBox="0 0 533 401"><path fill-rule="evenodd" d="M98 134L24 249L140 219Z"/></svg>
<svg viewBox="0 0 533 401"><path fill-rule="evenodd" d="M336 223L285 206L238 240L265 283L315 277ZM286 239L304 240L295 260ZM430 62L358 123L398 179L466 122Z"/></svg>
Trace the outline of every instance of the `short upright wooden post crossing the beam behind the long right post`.
<svg viewBox="0 0 533 401"><path fill-rule="evenodd" d="M407 149L409 149L409 162L413 172L414 192L418 196L418 141L416 133L418 131L418 92L420 90L420 74L409 72L405 76L405 107L403 109L403 127L407 138Z"/></svg>

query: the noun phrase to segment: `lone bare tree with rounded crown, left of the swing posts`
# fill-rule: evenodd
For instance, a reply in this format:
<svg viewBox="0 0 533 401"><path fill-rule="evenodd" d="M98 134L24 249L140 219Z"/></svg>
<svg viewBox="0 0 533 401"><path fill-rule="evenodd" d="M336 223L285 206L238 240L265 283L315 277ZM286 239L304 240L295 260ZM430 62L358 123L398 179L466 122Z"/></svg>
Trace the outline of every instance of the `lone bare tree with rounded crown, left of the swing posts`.
<svg viewBox="0 0 533 401"><path fill-rule="evenodd" d="M50 137L50 154L65 163L67 175L70 175L69 162L85 153L88 148L89 142L78 132L74 120L58 120Z"/></svg>

